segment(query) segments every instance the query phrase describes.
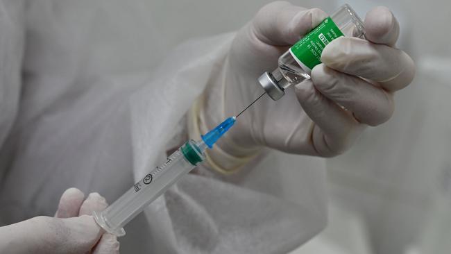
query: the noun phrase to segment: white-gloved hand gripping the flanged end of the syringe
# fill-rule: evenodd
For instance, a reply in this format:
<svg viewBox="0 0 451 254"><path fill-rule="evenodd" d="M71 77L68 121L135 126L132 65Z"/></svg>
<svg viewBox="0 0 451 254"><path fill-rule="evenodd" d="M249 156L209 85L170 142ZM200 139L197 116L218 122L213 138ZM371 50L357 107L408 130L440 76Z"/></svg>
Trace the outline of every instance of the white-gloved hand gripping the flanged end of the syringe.
<svg viewBox="0 0 451 254"><path fill-rule="evenodd" d="M114 235L103 233L92 216L107 207L105 198L79 189L62 194L55 218L34 217L0 228L0 253L119 253Z"/></svg>

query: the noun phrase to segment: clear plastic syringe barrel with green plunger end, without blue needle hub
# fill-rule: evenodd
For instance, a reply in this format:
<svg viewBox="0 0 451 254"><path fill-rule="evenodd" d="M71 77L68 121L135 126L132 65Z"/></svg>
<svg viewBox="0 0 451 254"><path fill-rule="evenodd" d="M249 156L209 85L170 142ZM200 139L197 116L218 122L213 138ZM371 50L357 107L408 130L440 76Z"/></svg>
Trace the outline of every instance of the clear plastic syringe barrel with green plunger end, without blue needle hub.
<svg viewBox="0 0 451 254"><path fill-rule="evenodd" d="M202 160L203 151L199 149L196 142L189 140L172 153L166 162L135 183L103 212L94 212L94 219L107 232L117 236L125 235L122 227L128 221L136 217L147 205L194 169L196 163Z"/></svg>

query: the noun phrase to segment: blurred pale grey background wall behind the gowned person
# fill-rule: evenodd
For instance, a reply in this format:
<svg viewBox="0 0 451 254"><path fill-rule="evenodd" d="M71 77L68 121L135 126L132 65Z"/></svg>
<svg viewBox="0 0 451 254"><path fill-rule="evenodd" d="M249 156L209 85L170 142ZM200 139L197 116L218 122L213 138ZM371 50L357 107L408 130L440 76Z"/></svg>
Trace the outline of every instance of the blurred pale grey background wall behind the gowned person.
<svg viewBox="0 0 451 254"><path fill-rule="evenodd" d="M166 44L170 50L192 37L235 31L270 1L128 2L136 2L143 12L149 13L163 41L171 42ZM344 3L291 2L308 8L319 7L326 12ZM349 247L358 244L357 241L365 242L368 253L449 253L451 1L349 0L347 3L362 18L373 6L391 8L401 26L398 47L413 56L418 73L414 83L396 95L395 115L387 124L368 128L348 153L327 161L331 203L341 208L339 212L335 212L335 206L331 210L331 228L335 233L325 234L329 238L348 236L335 239L335 244L343 245L343 253L358 253ZM350 222L340 225L339 221ZM346 226L355 221L359 221L357 235L347 235ZM358 236L363 234L365 239L360 239ZM327 245L324 241L319 244ZM332 253L339 251L335 249Z"/></svg>

